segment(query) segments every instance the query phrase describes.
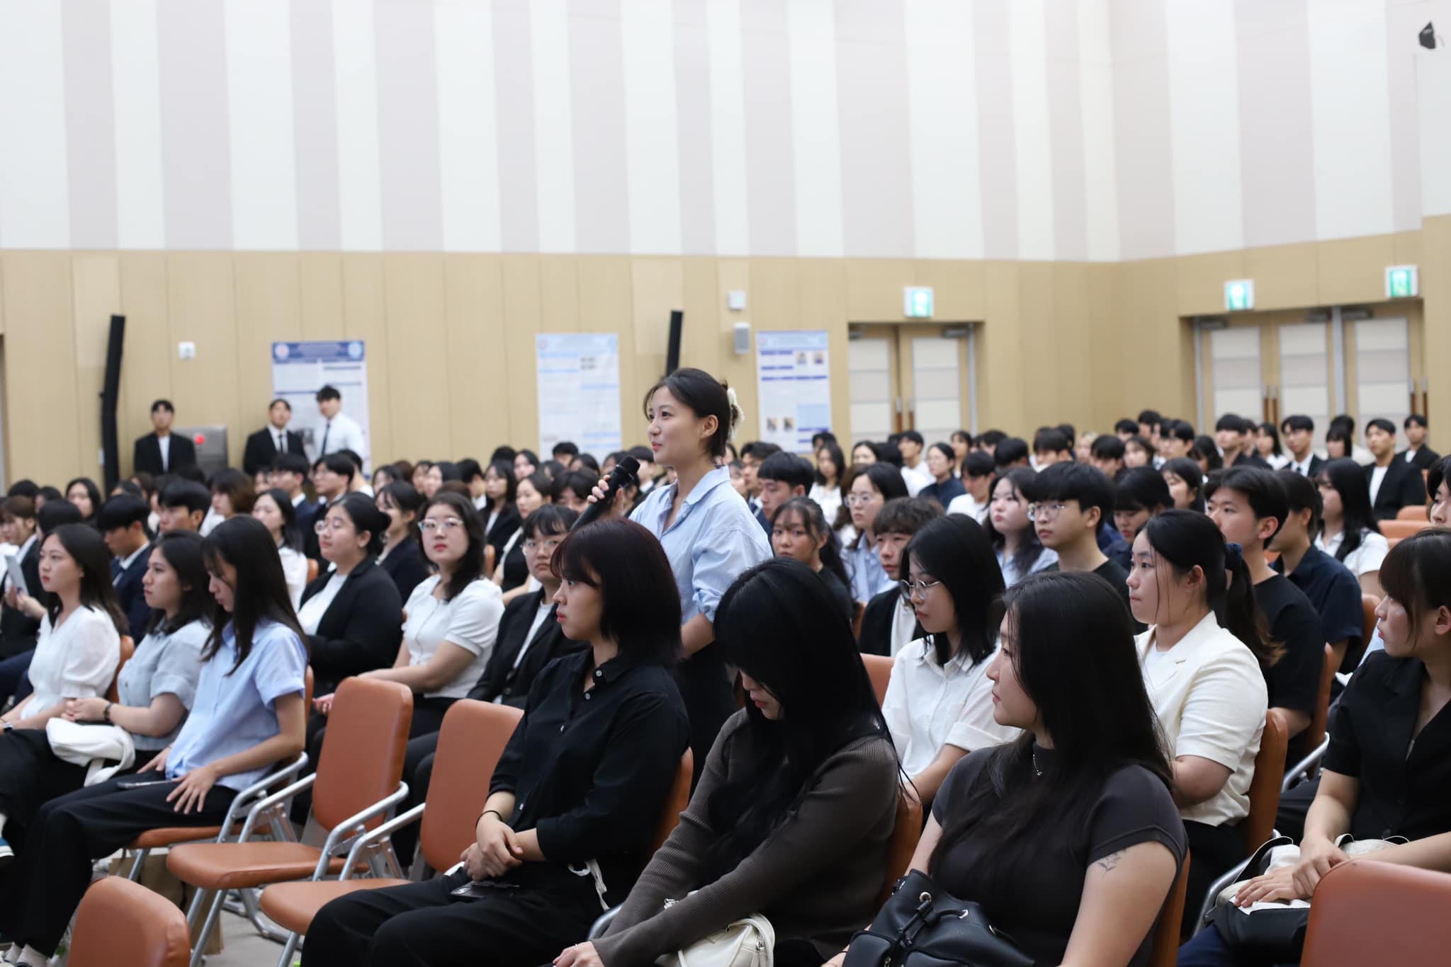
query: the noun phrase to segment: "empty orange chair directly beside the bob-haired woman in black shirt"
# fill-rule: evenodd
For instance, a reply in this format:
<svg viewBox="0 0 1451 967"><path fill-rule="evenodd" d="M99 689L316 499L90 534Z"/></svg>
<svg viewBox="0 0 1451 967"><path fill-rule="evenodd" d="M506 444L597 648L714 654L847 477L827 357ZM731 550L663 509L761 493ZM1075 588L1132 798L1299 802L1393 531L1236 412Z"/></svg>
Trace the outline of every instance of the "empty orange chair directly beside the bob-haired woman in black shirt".
<svg viewBox="0 0 1451 967"><path fill-rule="evenodd" d="M459 855L474 841L477 810L489 797L493 767L522 715L515 707L492 702L472 699L454 702L444 715L438 732L438 751L434 752L434 773L427 802L370 831L353 844L353 854L361 852L383 837L390 837L393 831L421 816L418 848L428 866L434 870L447 870L459 863ZM691 773L686 770L686 793L689 784ZM280 964L290 967L297 937L308 934L312 918L332 900L360 890L380 890L411 881L399 877L348 879L357 866L355 855L353 860L354 863L344 864L340 880L277 883L263 890L263 913L290 931Z"/></svg>

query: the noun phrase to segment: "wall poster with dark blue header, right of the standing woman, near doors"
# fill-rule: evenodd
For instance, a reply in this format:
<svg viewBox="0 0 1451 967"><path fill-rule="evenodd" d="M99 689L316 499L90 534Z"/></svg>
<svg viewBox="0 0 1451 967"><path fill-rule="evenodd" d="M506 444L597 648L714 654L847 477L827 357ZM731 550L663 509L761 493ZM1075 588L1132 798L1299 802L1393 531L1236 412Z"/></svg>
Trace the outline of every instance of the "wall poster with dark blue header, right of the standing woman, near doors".
<svg viewBox="0 0 1451 967"><path fill-rule="evenodd" d="M831 428L831 365L826 329L756 333L760 439L795 454Z"/></svg>

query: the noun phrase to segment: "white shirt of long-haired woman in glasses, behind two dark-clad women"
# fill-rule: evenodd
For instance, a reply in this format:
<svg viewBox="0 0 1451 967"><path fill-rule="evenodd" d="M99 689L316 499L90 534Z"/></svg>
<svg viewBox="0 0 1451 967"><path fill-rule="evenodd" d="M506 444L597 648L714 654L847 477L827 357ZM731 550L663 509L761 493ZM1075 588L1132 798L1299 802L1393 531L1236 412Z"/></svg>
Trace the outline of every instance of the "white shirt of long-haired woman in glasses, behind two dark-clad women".
<svg viewBox="0 0 1451 967"><path fill-rule="evenodd" d="M974 751L1010 742L1019 731L992 721L992 655L969 664L966 652L937 664L926 638L898 652L882 715L908 776L937 758L943 745Z"/></svg>

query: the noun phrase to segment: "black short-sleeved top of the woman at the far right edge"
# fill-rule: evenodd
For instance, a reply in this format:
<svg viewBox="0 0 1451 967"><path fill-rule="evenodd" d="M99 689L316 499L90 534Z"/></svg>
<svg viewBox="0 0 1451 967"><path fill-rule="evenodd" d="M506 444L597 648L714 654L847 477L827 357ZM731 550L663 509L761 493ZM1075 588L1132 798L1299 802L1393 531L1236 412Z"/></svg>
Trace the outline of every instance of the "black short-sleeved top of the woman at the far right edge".
<svg viewBox="0 0 1451 967"><path fill-rule="evenodd" d="M1331 716L1325 768L1360 780L1351 835L1421 839L1451 832L1451 705L1412 738L1426 667L1365 657Z"/></svg>

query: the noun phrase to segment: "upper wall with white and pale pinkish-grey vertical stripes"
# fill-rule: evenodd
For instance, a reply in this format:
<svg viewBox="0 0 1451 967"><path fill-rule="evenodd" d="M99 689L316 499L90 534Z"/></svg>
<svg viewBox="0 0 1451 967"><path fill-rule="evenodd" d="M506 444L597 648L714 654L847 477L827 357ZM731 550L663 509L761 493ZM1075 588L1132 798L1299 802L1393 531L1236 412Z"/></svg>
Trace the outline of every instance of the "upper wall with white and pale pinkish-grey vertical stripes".
<svg viewBox="0 0 1451 967"><path fill-rule="evenodd" d="M1436 14L7 0L0 246L1117 261L1409 231L1441 213Z"/></svg>

